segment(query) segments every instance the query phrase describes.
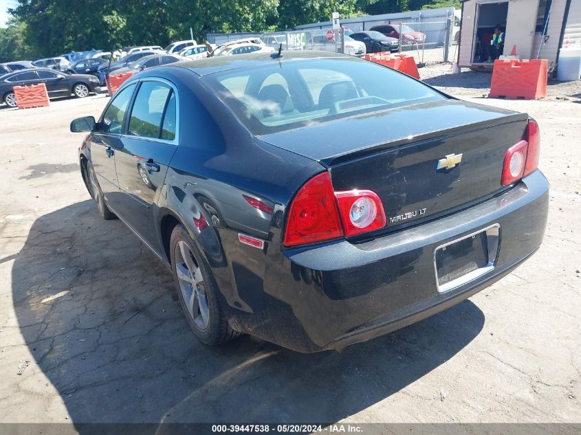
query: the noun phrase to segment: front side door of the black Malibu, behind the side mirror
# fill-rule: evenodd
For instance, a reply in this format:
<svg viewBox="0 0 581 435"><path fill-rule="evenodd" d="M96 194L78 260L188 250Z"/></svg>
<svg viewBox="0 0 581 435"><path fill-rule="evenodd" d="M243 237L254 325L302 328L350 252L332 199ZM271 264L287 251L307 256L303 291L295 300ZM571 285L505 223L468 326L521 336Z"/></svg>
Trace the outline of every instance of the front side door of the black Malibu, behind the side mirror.
<svg viewBox="0 0 581 435"><path fill-rule="evenodd" d="M116 153L120 149L120 137L123 131L125 113L135 91L135 85L129 85L113 97L105 109L99 123L99 129L93 133L90 144L90 159L105 201L112 209L122 203L115 168ZM114 211L113 211L114 212Z"/></svg>

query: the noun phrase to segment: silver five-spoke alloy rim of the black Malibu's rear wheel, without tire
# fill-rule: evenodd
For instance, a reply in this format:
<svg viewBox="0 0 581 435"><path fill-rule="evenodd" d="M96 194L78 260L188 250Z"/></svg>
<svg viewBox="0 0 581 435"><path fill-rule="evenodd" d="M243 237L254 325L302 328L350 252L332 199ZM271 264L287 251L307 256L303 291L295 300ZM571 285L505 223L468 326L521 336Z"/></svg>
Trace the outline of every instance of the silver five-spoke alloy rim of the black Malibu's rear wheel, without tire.
<svg viewBox="0 0 581 435"><path fill-rule="evenodd" d="M197 265L190 247L184 241L177 242L174 258L179 291L182 292L188 314L194 320L195 325L204 330L208 328L210 323L210 308L201 269Z"/></svg>

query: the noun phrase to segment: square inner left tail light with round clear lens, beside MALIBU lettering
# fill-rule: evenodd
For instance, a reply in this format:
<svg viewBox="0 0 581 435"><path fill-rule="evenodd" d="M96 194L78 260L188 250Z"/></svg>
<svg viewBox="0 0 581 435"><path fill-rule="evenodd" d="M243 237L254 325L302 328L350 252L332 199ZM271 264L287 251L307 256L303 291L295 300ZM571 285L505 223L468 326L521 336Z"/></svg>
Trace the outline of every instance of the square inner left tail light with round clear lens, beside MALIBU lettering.
<svg viewBox="0 0 581 435"><path fill-rule="evenodd" d="M346 236L377 230L385 225L382 201L371 190L335 192Z"/></svg>

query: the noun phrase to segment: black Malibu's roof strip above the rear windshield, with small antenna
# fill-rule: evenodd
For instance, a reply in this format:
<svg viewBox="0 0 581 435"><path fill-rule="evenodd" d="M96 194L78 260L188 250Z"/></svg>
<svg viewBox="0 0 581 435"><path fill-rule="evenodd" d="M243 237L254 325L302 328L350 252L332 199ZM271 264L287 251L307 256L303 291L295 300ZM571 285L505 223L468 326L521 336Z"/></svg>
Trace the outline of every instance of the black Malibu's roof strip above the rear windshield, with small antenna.
<svg viewBox="0 0 581 435"><path fill-rule="evenodd" d="M272 52L257 52L251 54L238 54L237 56L215 56L197 60L185 60L175 67L185 67L198 76L207 76L232 69L258 67L274 62L289 62L294 60L320 59L320 58L347 58L360 60L348 54L318 52L315 50L292 50L284 52L280 58L272 58Z"/></svg>

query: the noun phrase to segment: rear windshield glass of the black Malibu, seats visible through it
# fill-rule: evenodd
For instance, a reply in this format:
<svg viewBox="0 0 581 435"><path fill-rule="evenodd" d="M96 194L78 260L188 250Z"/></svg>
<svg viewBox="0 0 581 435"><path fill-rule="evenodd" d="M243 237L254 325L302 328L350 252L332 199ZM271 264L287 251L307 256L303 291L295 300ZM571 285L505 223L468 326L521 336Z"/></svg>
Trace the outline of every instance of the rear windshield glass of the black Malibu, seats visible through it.
<svg viewBox="0 0 581 435"><path fill-rule="evenodd" d="M351 58L273 60L204 80L254 135L446 99L408 76Z"/></svg>

